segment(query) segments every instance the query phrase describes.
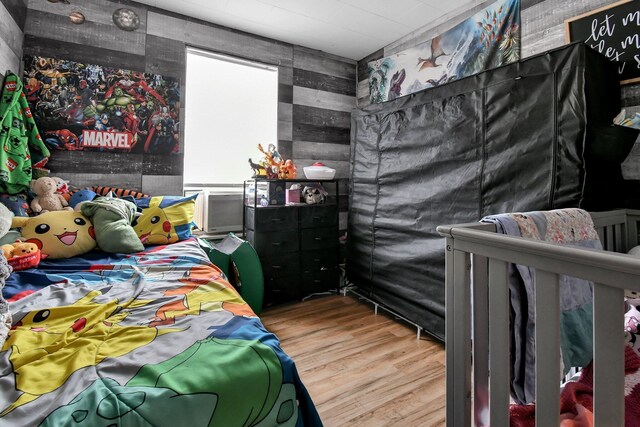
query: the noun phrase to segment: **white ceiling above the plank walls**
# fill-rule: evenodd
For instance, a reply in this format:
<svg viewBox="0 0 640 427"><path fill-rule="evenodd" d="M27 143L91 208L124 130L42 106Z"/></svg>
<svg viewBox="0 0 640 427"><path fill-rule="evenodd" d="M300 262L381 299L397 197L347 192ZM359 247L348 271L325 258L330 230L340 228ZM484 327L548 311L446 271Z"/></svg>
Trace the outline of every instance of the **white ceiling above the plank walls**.
<svg viewBox="0 0 640 427"><path fill-rule="evenodd" d="M136 0L215 24L360 60L478 0Z"/></svg>

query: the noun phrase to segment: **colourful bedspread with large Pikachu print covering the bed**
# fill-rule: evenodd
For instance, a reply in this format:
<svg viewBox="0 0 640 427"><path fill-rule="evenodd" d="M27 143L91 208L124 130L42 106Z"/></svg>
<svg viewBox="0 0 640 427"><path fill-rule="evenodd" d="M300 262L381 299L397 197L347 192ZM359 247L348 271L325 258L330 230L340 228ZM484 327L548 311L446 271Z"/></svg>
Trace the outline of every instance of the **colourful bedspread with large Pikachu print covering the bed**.
<svg viewBox="0 0 640 427"><path fill-rule="evenodd" d="M293 361L194 238L14 272L0 425L315 426Z"/></svg>

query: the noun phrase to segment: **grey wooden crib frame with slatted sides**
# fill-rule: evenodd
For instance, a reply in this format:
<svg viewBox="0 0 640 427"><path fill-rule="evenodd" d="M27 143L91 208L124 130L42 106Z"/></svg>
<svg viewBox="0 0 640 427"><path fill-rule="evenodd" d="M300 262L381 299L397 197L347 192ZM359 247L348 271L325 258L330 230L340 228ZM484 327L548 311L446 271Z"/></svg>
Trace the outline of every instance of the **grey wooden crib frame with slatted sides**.
<svg viewBox="0 0 640 427"><path fill-rule="evenodd" d="M640 211L592 217L606 249L638 243ZM595 425L623 426L622 300L625 289L640 291L640 260L496 234L492 224L438 232L446 238L447 426L509 425L509 263L536 269L536 425L559 425L558 276L567 274L594 282Z"/></svg>

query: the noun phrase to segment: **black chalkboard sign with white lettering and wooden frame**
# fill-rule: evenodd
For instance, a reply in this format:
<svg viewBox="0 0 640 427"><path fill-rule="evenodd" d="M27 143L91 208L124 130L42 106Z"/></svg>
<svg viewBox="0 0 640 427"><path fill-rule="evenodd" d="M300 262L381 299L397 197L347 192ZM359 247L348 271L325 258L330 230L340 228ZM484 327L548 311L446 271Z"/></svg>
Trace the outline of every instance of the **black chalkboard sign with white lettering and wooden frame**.
<svg viewBox="0 0 640 427"><path fill-rule="evenodd" d="M640 81L640 1L623 0L565 21L567 42L582 40L618 63L621 83Z"/></svg>

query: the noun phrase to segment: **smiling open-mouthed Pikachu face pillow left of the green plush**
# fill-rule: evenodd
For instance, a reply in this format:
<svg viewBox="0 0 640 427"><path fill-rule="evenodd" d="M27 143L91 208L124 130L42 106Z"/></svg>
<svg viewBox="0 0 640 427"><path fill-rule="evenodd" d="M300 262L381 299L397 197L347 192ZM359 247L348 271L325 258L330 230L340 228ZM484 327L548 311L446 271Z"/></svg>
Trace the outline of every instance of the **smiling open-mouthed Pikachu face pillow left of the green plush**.
<svg viewBox="0 0 640 427"><path fill-rule="evenodd" d="M50 211L35 217L14 217L22 238L35 243L49 258L71 258L96 247L93 224L82 213Z"/></svg>

